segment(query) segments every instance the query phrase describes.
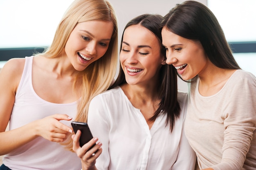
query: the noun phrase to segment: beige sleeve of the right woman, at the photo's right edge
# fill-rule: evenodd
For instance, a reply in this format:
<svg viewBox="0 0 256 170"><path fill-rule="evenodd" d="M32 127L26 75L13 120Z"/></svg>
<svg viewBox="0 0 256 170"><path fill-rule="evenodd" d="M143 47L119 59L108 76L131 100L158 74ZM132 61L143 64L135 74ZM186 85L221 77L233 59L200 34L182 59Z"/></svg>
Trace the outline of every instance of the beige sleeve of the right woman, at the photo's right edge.
<svg viewBox="0 0 256 170"><path fill-rule="evenodd" d="M239 75L229 94L224 121L222 161L214 170L240 170L256 129L256 78L250 74ZM255 136L255 135L254 135ZM256 148L256 146L252 146ZM255 152L255 151L254 151Z"/></svg>

